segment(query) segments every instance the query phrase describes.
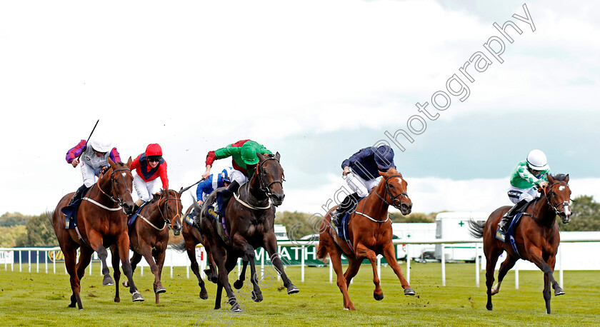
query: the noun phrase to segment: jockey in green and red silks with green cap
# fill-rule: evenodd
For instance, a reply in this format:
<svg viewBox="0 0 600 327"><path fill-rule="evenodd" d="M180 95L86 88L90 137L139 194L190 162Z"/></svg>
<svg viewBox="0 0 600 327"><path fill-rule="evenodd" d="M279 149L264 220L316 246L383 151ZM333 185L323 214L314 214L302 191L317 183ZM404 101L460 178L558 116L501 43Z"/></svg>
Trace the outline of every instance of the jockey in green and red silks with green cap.
<svg viewBox="0 0 600 327"><path fill-rule="evenodd" d="M224 148L209 151L209 154L206 155L206 171L202 174L202 178L209 178L211 166L215 159L224 159L231 156L233 171L231 171L231 175L229 176L231 184L227 186L227 189L235 192L256 171L256 164L259 163L259 157L256 156L256 152L259 154L271 154L271 151L266 149L264 145L251 140L237 141Z"/></svg>

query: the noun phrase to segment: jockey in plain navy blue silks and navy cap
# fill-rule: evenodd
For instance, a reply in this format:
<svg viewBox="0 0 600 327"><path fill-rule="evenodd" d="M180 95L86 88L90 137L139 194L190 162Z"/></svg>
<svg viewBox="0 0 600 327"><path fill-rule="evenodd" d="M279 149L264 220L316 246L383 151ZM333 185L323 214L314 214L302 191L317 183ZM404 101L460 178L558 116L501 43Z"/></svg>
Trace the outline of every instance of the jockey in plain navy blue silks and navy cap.
<svg viewBox="0 0 600 327"><path fill-rule="evenodd" d="M339 206L331 212L331 222L339 226L341 217L359 198L369 195L372 188L379 184L379 172L386 172L394 165L394 150L389 146L369 146L353 154L341 163L346 183L354 193L346 196Z"/></svg>

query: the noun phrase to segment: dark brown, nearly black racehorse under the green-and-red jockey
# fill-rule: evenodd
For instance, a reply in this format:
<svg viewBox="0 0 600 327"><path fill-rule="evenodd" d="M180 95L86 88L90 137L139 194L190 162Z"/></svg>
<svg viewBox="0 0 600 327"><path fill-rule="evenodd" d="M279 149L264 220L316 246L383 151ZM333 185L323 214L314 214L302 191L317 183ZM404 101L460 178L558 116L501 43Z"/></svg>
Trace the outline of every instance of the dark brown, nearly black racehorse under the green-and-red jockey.
<svg viewBox="0 0 600 327"><path fill-rule="evenodd" d="M275 155L256 155L259 157L256 172L249 181L240 186L237 193L234 193L234 198L231 198L220 221L212 218L209 206L203 206L200 211L200 226L206 239L204 246L212 254L218 268L215 310L221 308L221 293L225 288L231 311L241 311L228 278L228 273L236 266L238 258L244 261L244 270L234 286L239 289L244 285L246 264L250 263L250 280L253 285L251 298L256 302L263 300L254 266L254 250L259 247L269 253L288 294L299 292L284 272L283 263L277 253L273 227L274 206L281 205L285 197L284 169L279 164L280 155L279 152ZM211 193L205 203L213 203L216 194L216 191Z"/></svg>

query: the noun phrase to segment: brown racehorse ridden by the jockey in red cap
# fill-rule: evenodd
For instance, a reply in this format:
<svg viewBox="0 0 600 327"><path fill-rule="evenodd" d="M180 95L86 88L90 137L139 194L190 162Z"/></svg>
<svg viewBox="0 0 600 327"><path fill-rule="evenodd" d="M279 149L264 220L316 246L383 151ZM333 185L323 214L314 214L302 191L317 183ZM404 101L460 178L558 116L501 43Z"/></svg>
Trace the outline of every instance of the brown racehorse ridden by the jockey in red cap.
<svg viewBox="0 0 600 327"><path fill-rule="evenodd" d="M156 304L159 304L160 293L165 293L166 289L161 283L162 267L166 246L169 243L169 229L173 229L175 236L181 233L181 194L173 190L161 190L160 194L154 194L150 203L148 203L134 223L129 226L129 240L131 241L131 250L134 255L131 256L131 269L136 271L136 266L141 261L142 256L150 266L150 271L154 274L154 296ZM111 252L113 247L111 247ZM119 271L119 256L112 257L112 265L115 271ZM114 298L119 298L119 274L115 273L116 291ZM123 281L123 286L129 286L127 281ZM116 301L116 300L115 300Z"/></svg>

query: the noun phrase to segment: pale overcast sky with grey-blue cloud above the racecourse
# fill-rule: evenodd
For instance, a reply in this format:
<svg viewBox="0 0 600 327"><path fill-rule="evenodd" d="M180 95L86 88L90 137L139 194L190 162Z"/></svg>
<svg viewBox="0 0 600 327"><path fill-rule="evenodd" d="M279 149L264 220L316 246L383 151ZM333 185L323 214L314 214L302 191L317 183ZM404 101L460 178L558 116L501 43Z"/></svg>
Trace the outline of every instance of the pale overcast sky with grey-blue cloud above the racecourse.
<svg viewBox="0 0 600 327"><path fill-rule="evenodd" d="M161 144L176 189L210 150L253 139L279 151L281 210L323 213L341 161L381 140L416 212L509 204L531 149L597 200L599 5L525 4L529 19L523 1L3 1L0 213L54 210L75 191L81 171L64 156L97 119L125 161ZM493 26L509 20L513 43ZM469 81L459 69L478 52L489 62L467 66ZM468 96L451 94L454 74Z"/></svg>

